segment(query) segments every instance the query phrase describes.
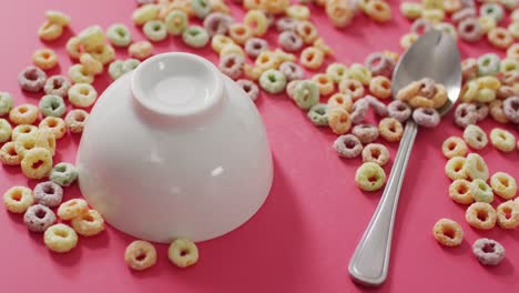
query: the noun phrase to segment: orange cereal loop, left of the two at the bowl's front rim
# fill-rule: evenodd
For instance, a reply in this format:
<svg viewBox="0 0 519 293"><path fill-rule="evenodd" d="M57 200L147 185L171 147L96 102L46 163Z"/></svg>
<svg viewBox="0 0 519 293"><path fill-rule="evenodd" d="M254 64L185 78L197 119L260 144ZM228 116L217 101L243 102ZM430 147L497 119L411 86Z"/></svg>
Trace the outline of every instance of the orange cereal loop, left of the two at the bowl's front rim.
<svg viewBox="0 0 519 293"><path fill-rule="evenodd" d="M156 263L156 250L147 241L135 240L124 251L124 261L132 270L146 270Z"/></svg>

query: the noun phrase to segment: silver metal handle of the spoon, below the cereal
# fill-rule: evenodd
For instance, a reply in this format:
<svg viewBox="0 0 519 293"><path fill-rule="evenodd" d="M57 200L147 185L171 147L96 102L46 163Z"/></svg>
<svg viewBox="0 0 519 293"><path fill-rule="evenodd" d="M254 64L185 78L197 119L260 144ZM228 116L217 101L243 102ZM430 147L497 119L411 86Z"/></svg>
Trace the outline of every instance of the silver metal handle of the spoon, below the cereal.
<svg viewBox="0 0 519 293"><path fill-rule="evenodd" d="M398 195L417 131L417 124L407 121L386 189L349 261L349 275L355 282L380 285L386 280Z"/></svg>

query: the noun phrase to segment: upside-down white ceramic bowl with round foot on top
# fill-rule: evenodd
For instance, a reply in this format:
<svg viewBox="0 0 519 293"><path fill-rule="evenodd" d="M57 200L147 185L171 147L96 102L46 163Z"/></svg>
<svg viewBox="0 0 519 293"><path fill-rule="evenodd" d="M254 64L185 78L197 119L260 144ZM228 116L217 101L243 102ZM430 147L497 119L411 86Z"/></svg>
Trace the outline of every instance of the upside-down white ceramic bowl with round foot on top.
<svg viewBox="0 0 519 293"><path fill-rule="evenodd" d="M204 241L263 204L273 166L251 99L207 60L164 53L113 82L78 150L81 192L118 230Z"/></svg>

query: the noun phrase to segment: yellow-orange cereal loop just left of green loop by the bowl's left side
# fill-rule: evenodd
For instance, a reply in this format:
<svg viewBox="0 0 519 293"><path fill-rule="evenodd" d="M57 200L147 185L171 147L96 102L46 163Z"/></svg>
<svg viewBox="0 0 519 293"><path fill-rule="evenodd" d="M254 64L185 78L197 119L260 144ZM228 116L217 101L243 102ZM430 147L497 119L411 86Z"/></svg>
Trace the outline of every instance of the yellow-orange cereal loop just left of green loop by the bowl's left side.
<svg viewBox="0 0 519 293"><path fill-rule="evenodd" d="M33 148L23 155L21 168L27 178L43 179L52 169L52 155L44 148Z"/></svg>

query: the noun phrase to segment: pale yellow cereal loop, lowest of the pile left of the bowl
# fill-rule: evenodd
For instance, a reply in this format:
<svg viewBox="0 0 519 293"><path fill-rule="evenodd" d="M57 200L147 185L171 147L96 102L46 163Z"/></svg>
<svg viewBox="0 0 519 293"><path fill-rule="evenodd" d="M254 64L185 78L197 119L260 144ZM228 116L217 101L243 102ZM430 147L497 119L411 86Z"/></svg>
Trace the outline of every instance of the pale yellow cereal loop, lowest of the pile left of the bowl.
<svg viewBox="0 0 519 293"><path fill-rule="evenodd" d="M49 250L65 253L78 245L78 234L75 234L72 228L65 224L54 224L45 230L43 242Z"/></svg>

